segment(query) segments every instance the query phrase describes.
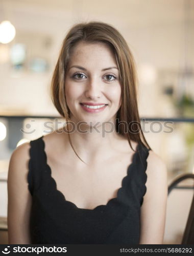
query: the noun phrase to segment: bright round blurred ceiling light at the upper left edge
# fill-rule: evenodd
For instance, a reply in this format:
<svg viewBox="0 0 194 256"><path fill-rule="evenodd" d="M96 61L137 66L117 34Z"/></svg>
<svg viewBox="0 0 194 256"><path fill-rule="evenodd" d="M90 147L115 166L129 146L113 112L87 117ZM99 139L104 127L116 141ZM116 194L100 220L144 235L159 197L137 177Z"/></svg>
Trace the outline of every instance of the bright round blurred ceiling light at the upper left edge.
<svg viewBox="0 0 194 256"><path fill-rule="evenodd" d="M4 20L0 24L0 42L2 42L2 44L8 44L8 42L11 42L14 37L14 26L11 24L11 22L9 22L9 20Z"/></svg>

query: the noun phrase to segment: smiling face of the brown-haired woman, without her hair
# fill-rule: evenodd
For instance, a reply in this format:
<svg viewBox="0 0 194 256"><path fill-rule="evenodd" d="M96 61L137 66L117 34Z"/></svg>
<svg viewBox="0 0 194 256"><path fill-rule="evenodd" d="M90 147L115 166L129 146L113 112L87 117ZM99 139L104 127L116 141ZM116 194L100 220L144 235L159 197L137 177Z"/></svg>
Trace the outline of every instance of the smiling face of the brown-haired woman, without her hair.
<svg viewBox="0 0 194 256"><path fill-rule="evenodd" d="M79 42L71 54L65 76L65 96L71 121L112 121L121 104L119 72L112 51L103 42ZM85 103L107 104L91 109Z"/></svg>

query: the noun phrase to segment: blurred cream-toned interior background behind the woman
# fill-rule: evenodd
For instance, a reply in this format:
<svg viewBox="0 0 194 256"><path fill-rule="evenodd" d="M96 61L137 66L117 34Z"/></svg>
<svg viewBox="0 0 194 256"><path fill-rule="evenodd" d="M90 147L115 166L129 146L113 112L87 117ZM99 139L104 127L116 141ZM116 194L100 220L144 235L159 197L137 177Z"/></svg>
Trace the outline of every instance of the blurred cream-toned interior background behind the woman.
<svg viewBox="0 0 194 256"><path fill-rule="evenodd" d="M50 98L52 74L68 29L91 20L113 25L128 42L137 66L143 132L166 163L168 185L194 174L193 0L1 0L1 244L8 243L10 156L21 143L55 130L56 120L62 126ZM181 243L192 196L190 179L168 196L164 244Z"/></svg>

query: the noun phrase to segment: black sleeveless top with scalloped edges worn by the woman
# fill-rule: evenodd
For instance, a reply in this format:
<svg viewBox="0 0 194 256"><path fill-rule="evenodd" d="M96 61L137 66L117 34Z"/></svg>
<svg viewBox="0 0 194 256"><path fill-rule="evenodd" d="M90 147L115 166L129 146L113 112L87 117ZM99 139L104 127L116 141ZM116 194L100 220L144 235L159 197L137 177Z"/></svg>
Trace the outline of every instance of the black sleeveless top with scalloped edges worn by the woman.
<svg viewBox="0 0 194 256"><path fill-rule="evenodd" d="M139 244L149 149L137 144L117 197L94 209L78 208L57 190L43 136L30 141L28 188L32 244Z"/></svg>

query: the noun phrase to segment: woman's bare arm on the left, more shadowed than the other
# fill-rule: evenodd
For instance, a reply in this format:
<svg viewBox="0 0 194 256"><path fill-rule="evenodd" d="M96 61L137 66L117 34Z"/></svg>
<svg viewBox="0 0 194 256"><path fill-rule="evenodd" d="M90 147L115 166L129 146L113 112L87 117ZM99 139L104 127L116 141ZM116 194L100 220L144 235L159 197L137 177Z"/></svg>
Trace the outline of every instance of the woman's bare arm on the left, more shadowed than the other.
<svg viewBox="0 0 194 256"><path fill-rule="evenodd" d="M8 170L9 244L30 244L29 220L32 197L28 189L30 143L18 146L11 155Z"/></svg>

